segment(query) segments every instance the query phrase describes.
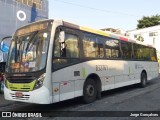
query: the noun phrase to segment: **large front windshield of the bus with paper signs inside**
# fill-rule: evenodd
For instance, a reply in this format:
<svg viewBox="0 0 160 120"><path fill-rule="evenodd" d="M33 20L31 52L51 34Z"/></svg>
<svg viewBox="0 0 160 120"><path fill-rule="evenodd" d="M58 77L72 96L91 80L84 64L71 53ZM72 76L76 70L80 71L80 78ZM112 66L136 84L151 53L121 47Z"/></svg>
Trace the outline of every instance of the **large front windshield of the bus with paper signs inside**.
<svg viewBox="0 0 160 120"><path fill-rule="evenodd" d="M16 32L9 50L7 72L34 72L45 68L50 38L49 23L45 25L40 24L41 28L36 29L31 25Z"/></svg>

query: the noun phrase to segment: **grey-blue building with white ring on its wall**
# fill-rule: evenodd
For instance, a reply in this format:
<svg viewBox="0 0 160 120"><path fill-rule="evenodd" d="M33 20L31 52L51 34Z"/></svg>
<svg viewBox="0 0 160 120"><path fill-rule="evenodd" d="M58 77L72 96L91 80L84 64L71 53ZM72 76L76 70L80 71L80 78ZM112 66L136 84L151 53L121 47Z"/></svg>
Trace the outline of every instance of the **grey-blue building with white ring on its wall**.
<svg viewBox="0 0 160 120"><path fill-rule="evenodd" d="M48 0L0 0L0 39L28 23L48 18Z"/></svg>

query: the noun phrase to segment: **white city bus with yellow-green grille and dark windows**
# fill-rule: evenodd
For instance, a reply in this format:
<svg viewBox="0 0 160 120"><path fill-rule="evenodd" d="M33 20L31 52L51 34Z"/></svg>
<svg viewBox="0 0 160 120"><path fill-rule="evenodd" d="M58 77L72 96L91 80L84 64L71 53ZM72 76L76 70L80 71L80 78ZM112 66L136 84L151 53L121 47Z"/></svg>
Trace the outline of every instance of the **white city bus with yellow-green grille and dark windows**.
<svg viewBox="0 0 160 120"><path fill-rule="evenodd" d="M16 30L5 69L6 100L51 104L158 77L153 46L63 20L43 20Z"/></svg>

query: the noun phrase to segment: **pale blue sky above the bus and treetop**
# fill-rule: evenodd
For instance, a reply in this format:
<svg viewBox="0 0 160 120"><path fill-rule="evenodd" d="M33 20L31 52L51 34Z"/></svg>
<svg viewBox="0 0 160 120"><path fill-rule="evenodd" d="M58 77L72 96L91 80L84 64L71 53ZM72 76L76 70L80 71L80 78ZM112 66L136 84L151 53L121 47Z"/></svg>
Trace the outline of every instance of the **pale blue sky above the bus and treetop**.
<svg viewBox="0 0 160 120"><path fill-rule="evenodd" d="M133 30L143 16L160 14L160 0L49 0L49 18L81 26Z"/></svg>

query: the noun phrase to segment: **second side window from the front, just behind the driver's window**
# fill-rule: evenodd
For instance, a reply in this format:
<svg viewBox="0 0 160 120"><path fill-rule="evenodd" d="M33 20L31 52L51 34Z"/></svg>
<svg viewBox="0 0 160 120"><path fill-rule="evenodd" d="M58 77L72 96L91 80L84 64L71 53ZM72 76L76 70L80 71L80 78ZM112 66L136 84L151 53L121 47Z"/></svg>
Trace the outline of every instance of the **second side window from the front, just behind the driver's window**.
<svg viewBox="0 0 160 120"><path fill-rule="evenodd" d="M85 33L83 36L83 51L84 57L89 58L103 58L103 42L101 38L93 34Z"/></svg>

